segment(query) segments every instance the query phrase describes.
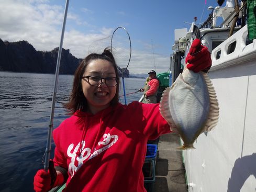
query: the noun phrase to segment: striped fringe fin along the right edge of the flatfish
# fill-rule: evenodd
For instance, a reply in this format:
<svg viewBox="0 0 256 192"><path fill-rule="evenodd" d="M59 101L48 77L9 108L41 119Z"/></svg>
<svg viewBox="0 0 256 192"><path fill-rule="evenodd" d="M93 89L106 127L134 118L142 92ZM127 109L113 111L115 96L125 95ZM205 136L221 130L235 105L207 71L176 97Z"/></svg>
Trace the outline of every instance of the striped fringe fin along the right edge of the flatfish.
<svg viewBox="0 0 256 192"><path fill-rule="evenodd" d="M203 75L205 83L207 85L210 101L209 117L206 121L204 129L202 130L202 132L207 132L212 131L217 126L219 119L219 104L213 83L210 80L208 74L204 72L200 73Z"/></svg>

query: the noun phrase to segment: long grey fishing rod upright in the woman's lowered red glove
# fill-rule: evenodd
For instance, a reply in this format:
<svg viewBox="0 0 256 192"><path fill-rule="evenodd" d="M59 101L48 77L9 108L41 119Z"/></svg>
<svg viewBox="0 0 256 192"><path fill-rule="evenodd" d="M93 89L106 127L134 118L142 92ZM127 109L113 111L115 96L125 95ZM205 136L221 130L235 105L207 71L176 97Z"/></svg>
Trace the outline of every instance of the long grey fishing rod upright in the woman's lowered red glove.
<svg viewBox="0 0 256 192"><path fill-rule="evenodd" d="M57 93L61 51L62 51L62 45L63 45L64 32L65 32L65 25L66 25L66 15L68 14L68 7L69 7L69 0L66 0L62 32L61 32L61 39L60 39L60 47L59 47L59 52L58 52L57 66L56 66L55 79L54 79L54 89L53 89L53 95L52 95L51 116L50 116L50 123L48 126L48 137L47 137L47 143L46 143L46 151L44 152L45 159L43 162L44 163L43 168L44 168L44 171L46 171L46 172L48 172L48 169L49 169L55 98L56 98L56 93Z"/></svg>

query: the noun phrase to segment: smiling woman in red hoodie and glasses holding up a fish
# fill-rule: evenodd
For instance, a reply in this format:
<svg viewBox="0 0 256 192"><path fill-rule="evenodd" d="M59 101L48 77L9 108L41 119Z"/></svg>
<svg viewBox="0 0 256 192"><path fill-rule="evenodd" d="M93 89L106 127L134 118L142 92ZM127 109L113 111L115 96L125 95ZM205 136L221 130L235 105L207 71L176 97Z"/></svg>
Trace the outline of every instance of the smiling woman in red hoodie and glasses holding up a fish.
<svg viewBox="0 0 256 192"><path fill-rule="evenodd" d="M209 60L201 68L206 67ZM80 63L64 105L72 116L53 131L57 179L51 186L50 173L39 170L36 191L65 181L65 191L146 191L142 166L147 141L171 130L159 104L122 105L118 92L117 65L108 49Z"/></svg>

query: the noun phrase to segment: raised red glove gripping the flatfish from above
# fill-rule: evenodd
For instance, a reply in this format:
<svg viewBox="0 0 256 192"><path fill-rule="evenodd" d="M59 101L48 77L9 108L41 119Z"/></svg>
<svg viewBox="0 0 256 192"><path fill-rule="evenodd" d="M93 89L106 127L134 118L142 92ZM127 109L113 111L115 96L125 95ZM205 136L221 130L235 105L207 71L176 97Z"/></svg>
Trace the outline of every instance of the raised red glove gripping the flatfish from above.
<svg viewBox="0 0 256 192"><path fill-rule="evenodd" d="M202 46L199 39L195 39L191 45L190 52L187 54L185 62L187 69L195 73L199 71L207 72L212 66L212 59L210 59L210 52L208 48Z"/></svg>

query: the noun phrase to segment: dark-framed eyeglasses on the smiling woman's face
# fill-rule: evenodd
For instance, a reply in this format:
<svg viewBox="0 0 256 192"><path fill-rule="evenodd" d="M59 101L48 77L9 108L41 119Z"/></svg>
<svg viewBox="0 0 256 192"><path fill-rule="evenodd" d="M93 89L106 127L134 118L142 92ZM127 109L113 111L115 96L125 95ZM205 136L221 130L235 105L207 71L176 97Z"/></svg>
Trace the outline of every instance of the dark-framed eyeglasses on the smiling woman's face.
<svg viewBox="0 0 256 192"><path fill-rule="evenodd" d="M105 80L105 84L109 87L114 87L117 84L117 77L99 77L99 76L82 76L82 78L87 78L88 83L92 86L99 86L102 84L102 80Z"/></svg>

